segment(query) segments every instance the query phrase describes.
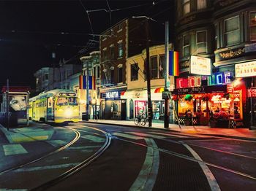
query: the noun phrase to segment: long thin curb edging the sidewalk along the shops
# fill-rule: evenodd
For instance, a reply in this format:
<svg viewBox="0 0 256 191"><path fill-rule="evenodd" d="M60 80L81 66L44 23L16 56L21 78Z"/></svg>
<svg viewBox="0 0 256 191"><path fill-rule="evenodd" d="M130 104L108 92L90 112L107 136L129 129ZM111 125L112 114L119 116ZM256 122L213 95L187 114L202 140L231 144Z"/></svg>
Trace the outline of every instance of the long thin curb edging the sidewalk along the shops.
<svg viewBox="0 0 256 191"><path fill-rule="evenodd" d="M89 123L94 123L94 124L102 124L102 125L121 125L121 124L115 124L115 123L107 123L107 122L90 122L90 121L80 121L80 122L89 122ZM148 128L148 127L143 127L143 126L136 126L136 125L121 125L124 127L129 127L129 128L144 128L144 129L154 129L154 130L164 130L164 131L173 131L173 132L179 132L181 133L181 130L173 130L170 128ZM256 130L256 129L255 129ZM208 134L208 133L196 133L198 135L205 135L205 136L217 136L217 137L225 137L225 138L230 138L230 139L241 139L241 140L246 140L246 141L256 141L256 138L248 138L248 137L242 137L242 136L225 136L225 135L218 135L218 134Z"/></svg>

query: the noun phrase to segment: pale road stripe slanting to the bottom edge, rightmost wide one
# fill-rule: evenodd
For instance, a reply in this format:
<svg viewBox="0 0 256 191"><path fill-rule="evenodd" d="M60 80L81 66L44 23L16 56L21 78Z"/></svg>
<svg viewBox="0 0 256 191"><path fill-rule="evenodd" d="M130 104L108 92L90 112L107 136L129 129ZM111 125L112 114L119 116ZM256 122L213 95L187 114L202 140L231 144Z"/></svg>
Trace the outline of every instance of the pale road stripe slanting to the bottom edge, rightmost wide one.
<svg viewBox="0 0 256 191"><path fill-rule="evenodd" d="M211 173L210 169L208 168L208 166L206 165L206 163L203 163L203 160L201 159L201 157L199 155L197 155L197 153L191 148L189 147L189 145L187 144L183 144L184 147L186 147L189 152L191 152L191 154L193 155L193 157L195 157L196 160L200 160L202 162L199 162L200 167L203 169L203 173L206 175L206 178L208 180L208 184L211 187L211 190L220 190L219 188L219 184L217 182L217 180L214 177L214 174Z"/></svg>

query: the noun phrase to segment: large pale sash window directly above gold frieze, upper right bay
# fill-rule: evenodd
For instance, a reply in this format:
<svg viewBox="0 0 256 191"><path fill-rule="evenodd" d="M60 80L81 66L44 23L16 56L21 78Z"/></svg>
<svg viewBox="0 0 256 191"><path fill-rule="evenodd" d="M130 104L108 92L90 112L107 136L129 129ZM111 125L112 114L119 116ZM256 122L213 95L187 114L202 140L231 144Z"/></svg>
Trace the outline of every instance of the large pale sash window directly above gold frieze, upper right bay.
<svg viewBox="0 0 256 191"><path fill-rule="evenodd" d="M225 45L231 46L240 42L239 17L225 20Z"/></svg>

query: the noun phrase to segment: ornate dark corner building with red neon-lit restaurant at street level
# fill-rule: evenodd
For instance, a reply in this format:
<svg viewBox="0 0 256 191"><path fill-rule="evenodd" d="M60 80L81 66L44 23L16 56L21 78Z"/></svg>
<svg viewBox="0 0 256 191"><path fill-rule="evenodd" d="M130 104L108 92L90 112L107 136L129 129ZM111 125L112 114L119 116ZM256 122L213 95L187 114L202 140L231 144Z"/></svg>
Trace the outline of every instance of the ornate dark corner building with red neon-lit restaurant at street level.
<svg viewBox="0 0 256 191"><path fill-rule="evenodd" d="M208 125L215 114L225 118L219 127L254 127L256 1L182 0L176 7L178 120L190 110L197 125ZM209 58L211 74L192 74L194 58Z"/></svg>

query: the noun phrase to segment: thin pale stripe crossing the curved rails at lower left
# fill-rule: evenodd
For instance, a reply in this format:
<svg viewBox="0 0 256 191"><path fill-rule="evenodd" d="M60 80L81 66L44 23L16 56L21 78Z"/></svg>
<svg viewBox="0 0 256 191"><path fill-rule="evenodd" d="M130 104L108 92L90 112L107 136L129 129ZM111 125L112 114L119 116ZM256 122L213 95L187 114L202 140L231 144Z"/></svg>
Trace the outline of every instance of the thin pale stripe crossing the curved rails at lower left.
<svg viewBox="0 0 256 191"><path fill-rule="evenodd" d="M14 172L29 172L29 171L43 171L43 170L50 170L50 169L56 169L56 168L69 168L69 167L75 167L76 165L79 165L80 163L69 163L69 164L62 164L62 165L46 165L46 166L37 166L37 167L31 167L31 168L18 168L14 170Z"/></svg>

